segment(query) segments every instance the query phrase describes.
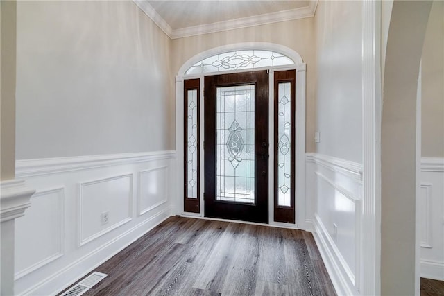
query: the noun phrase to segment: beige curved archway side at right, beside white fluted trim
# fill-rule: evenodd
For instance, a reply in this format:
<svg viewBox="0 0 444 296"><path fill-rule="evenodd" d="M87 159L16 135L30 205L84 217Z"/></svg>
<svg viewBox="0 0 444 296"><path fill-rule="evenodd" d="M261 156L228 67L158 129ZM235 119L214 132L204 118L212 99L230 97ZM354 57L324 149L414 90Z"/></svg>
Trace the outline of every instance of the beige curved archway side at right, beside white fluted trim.
<svg viewBox="0 0 444 296"><path fill-rule="evenodd" d="M394 1L381 121L381 294L419 295L417 85L432 1Z"/></svg>

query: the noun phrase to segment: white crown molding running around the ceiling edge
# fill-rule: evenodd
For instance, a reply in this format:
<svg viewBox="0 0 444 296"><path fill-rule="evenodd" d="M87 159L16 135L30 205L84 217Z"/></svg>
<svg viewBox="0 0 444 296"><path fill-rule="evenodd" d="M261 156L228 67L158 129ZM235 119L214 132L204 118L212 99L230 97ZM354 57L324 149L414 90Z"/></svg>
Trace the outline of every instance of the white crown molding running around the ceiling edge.
<svg viewBox="0 0 444 296"><path fill-rule="evenodd" d="M316 12L316 7L318 6L318 0L310 0L308 6L301 8L272 12L264 15L255 15L253 17L230 19L228 21L219 21L212 24L204 24L199 26L191 26L187 28L173 29L171 28L171 26L169 26L167 21L165 21L153 8L153 6L151 6L147 1L144 0L133 0L133 1L171 39L203 35L208 33L216 33L221 31L234 30L237 28L259 26L264 24L273 24L281 21L291 21L294 19L304 19L306 17L314 17L314 14Z"/></svg>

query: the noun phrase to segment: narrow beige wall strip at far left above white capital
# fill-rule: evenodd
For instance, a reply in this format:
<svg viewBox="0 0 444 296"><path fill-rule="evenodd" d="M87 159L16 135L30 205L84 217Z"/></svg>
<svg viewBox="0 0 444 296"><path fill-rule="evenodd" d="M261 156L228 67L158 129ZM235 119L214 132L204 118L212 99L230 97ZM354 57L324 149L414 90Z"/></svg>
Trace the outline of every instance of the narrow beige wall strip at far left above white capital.
<svg viewBox="0 0 444 296"><path fill-rule="evenodd" d="M0 1L1 86L0 86L0 180L15 177L15 18L16 2Z"/></svg>

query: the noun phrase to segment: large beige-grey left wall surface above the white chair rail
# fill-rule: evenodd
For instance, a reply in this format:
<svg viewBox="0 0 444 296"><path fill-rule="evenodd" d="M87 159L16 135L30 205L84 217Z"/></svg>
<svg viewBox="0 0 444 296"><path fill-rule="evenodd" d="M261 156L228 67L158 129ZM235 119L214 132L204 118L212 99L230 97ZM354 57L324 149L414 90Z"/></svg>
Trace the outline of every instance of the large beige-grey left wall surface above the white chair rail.
<svg viewBox="0 0 444 296"><path fill-rule="evenodd" d="M170 44L133 1L17 2L17 159L174 149Z"/></svg>

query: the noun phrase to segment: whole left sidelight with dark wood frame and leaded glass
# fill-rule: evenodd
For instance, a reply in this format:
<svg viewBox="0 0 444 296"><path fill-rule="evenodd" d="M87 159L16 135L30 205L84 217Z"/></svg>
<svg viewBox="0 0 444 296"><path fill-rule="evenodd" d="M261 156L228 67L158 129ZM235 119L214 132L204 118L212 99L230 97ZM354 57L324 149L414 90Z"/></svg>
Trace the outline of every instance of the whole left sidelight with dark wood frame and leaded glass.
<svg viewBox="0 0 444 296"><path fill-rule="evenodd" d="M199 198L199 79L184 81L184 211L198 213Z"/></svg>

